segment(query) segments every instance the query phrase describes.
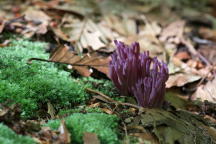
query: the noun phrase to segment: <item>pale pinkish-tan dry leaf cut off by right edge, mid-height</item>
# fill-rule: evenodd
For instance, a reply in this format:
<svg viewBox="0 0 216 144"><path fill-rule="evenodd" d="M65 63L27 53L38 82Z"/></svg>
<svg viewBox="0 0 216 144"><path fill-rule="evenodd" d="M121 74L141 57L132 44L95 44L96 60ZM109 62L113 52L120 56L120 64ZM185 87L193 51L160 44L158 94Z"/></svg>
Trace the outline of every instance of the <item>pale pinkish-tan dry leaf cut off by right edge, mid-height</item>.
<svg viewBox="0 0 216 144"><path fill-rule="evenodd" d="M201 101L209 101L216 103L216 78L208 81L205 85L200 85L196 92L192 95L192 99L199 99Z"/></svg>

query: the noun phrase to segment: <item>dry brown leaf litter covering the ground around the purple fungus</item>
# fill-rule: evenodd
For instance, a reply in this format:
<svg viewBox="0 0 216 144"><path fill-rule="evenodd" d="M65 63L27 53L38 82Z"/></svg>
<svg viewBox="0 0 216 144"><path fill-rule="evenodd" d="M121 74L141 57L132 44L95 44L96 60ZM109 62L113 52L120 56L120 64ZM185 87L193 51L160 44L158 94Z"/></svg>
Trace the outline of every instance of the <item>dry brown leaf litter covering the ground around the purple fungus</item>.
<svg viewBox="0 0 216 144"><path fill-rule="evenodd" d="M25 2L23 6L7 3L5 5L13 8L13 11L6 14L7 8L1 10L5 15L0 17L0 33L10 31L26 38L44 37L47 42L52 37L52 43L56 46L50 58L32 58L29 62L38 60L67 64L70 69L85 77L92 76L95 70L105 74L106 78L109 77L110 54L115 51L113 40L127 44L139 42L141 51L148 50L151 56L157 56L168 63L168 92L172 89L182 90L187 86L192 86L194 90L186 94L172 93L173 99L168 100L171 103L167 103L165 110L157 110L119 102L103 93L87 89L88 93L94 94L88 106L119 116L119 127L122 137L126 138L125 142L132 140L132 137L137 137L140 143L215 142L214 30L211 27L194 28L188 25L191 17L173 20L166 25L161 25L164 22L160 22L159 15L156 15L155 20L148 19L152 9L159 7L157 4L150 4L144 10L145 13L139 9L140 3L137 5L136 2L124 13L107 13L109 8L102 7L105 2L91 2L82 4L81 1L37 0ZM174 18L176 17L177 14ZM194 30L198 30L198 33L194 33ZM1 45L4 47L5 43L7 41L1 42ZM175 93L181 96L177 98ZM182 100L184 104L179 106L177 103ZM56 117L51 103L48 103L48 113L51 118ZM30 122L28 126L17 115L20 112L16 106L3 107L0 112L1 122L17 133L24 131L24 134L32 135L40 143L73 141L64 121L58 131L42 127L33 132L34 122ZM19 122L13 124L14 119L19 119ZM9 121L11 123L7 123ZM36 125L39 123L41 122L36 121ZM85 133L83 141L86 144L100 143L94 133Z"/></svg>

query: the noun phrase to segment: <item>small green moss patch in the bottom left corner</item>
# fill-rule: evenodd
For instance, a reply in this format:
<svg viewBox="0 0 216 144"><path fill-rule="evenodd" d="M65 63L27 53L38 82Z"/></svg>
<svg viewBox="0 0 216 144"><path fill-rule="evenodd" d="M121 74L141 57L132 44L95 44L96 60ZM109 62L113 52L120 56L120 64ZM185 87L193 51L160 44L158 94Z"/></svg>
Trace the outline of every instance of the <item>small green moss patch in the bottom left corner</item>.
<svg viewBox="0 0 216 144"><path fill-rule="evenodd" d="M0 143L1 144L36 144L36 142L27 136L17 135L7 126L0 123Z"/></svg>

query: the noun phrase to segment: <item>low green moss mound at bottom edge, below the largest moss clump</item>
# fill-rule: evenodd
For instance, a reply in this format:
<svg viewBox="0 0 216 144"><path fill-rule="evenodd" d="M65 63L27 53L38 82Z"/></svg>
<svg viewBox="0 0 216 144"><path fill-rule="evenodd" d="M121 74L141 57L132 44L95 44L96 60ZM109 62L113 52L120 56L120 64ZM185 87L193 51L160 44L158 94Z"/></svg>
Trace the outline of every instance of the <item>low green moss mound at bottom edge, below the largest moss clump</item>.
<svg viewBox="0 0 216 144"><path fill-rule="evenodd" d="M66 126L71 133L72 143L83 143L83 133L96 133L101 143L118 143L116 134L117 117L104 113L75 113L65 118ZM60 120L51 120L47 126L58 129Z"/></svg>

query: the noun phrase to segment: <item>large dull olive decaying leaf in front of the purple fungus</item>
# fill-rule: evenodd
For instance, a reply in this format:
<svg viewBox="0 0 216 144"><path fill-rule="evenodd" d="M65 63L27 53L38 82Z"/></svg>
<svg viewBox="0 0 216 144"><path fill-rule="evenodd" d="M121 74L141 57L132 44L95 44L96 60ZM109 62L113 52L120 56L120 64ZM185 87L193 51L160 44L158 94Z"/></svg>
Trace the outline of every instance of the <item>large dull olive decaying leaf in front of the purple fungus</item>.
<svg viewBox="0 0 216 144"><path fill-rule="evenodd" d="M208 129L205 128L204 120L186 111L148 109L141 117L142 125L153 127L152 132L160 143L209 143L215 140L207 135Z"/></svg>

